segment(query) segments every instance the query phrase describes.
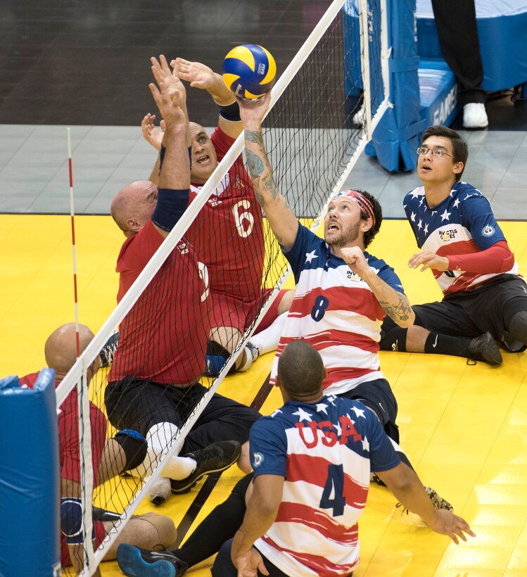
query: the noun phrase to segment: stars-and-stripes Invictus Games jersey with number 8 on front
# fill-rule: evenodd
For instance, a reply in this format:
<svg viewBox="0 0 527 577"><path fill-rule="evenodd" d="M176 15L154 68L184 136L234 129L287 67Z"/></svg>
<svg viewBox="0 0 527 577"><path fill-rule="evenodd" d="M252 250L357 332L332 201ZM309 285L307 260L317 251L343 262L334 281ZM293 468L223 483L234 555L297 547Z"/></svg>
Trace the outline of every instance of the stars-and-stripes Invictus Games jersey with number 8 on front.
<svg viewBox="0 0 527 577"><path fill-rule="evenodd" d="M296 289L271 373L276 379L281 351L302 338L314 346L326 367L323 387L339 394L365 381L383 378L379 340L386 316L367 282L323 239L301 224L291 251L285 253L295 275ZM370 267L395 291L403 292L391 267L364 252Z"/></svg>

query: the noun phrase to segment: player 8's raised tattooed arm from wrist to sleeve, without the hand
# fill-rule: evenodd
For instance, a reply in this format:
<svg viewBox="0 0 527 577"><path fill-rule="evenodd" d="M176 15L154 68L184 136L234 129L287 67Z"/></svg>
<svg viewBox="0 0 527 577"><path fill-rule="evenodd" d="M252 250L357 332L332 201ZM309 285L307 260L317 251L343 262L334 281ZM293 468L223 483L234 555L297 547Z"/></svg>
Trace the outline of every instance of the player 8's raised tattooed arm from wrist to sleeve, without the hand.
<svg viewBox="0 0 527 577"><path fill-rule="evenodd" d="M269 226L279 244L288 250L293 247L295 242L298 220L274 182L261 128L258 130L246 129L245 139L248 170L253 182L256 200L265 210Z"/></svg>

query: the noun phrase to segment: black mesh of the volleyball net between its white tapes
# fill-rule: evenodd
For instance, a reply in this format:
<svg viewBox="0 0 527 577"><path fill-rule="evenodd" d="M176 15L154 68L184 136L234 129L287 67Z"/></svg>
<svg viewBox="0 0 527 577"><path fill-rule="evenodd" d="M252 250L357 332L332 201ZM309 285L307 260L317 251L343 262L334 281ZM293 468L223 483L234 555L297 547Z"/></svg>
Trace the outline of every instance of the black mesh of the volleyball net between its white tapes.
<svg viewBox="0 0 527 577"><path fill-rule="evenodd" d="M383 100L379 30L379 6L370 2L372 115ZM308 227L321 214L364 137L360 46L357 6L346 3L264 123L277 187ZM135 250L133 243L129 250ZM141 244L141 251L138 262L153 251L151 243ZM129 274L126 267L123 270ZM118 429L147 436L155 423L170 421L180 427L191 418L214 382L201 376L207 341L212 336L234 350L243 333L253 329L269 295L265 289L273 289L285 270L240 157L122 322L110 374L108 368L100 369L91 381L91 400L110 417L104 438L112 438ZM188 386L174 393L174 384L198 380L202 388ZM107 381L112 384L107 386ZM254 385L256 390L260 383ZM159 430L153 442L157 455L151 447L141 475L134 470L111 476L120 466L118 454L110 455L110 478L94 491L97 507L129 516L127 507L144 485L144 476L151 474L174 439L170 431ZM193 448L187 438L182 453Z"/></svg>

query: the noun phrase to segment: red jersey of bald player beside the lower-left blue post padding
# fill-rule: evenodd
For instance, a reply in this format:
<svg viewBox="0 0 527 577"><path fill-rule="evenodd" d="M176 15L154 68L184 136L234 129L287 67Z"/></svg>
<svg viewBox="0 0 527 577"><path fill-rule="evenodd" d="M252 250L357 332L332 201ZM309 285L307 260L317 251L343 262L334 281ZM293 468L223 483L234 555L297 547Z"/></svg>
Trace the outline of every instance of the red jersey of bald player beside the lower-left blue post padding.
<svg viewBox="0 0 527 577"><path fill-rule="evenodd" d="M27 374L20 378L20 384L33 388L38 373ZM58 386L58 383L55 383ZM61 477L80 483L79 452L79 411L77 389L74 388L58 407L58 443L61 457ZM97 484L97 469L101 462L106 443L106 417L93 402L89 403L91 422L91 464L94 467L94 485Z"/></svg>

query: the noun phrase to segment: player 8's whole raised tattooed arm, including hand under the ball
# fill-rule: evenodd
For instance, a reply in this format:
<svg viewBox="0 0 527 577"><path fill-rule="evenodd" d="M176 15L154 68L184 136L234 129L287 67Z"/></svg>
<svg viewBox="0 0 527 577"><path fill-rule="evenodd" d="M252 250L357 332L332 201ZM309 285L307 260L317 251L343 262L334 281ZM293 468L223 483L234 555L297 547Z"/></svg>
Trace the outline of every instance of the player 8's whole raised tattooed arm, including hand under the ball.
<svg viewBox="0 0 527 577"><path fill-rule="evenodd" d="M278 242L289 251L298 231L298 220L274 182L272 168L265 152L262 120L269 107L269 94L257 101L239 100L240 116L245 129L246 155L256 200L265 210L269 226Z"/></svg>

